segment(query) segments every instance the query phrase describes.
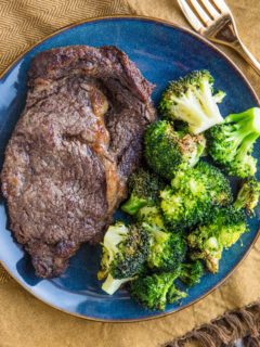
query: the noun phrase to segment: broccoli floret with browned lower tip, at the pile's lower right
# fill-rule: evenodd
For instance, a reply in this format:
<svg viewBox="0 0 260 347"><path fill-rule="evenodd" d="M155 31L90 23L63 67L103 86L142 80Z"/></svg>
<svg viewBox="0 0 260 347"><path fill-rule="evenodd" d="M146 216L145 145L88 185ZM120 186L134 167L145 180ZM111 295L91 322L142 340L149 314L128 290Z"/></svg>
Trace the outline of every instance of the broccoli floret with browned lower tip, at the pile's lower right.
<svg viewBox="0 0 260 347"><path fill-rule="evenodd" d="M246 216L233 206L214 208L208 220L198 226L188 236L191 257L203 259L209 271L219 271L219 261L224 248L231 247L247 231Z"/></svg>

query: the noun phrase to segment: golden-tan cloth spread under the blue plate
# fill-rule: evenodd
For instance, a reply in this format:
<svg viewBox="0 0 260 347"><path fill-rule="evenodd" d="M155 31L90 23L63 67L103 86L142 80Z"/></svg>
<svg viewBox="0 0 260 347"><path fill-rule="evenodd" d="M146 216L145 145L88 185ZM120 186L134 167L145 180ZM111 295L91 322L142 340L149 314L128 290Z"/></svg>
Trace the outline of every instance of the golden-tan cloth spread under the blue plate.
<svg viewBox="0 0 260 347"><path fill-rule="evenodd" d="M259 0L227 3L245 43L260 57ZM91 16L126 13L188 27L176 0L0 0L0 73L32 43L65 25ZM234 52L221 49L260 93L259 78L252 69ZM256 300L260 293L259 268L260 240L225 284L199 303L165 318L131 324L100 323L62 313L32 297L0 269L0 347L159 346L227 309Z"/></svg>

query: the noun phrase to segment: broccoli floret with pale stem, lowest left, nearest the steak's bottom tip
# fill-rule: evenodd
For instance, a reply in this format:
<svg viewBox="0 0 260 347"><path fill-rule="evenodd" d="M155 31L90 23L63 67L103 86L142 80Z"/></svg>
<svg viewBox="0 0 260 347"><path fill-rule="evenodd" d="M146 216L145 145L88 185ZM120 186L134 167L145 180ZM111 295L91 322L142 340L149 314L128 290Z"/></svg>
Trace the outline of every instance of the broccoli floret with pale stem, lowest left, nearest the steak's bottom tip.
<svg viewBox="0 0 260 347"><path fill-rule="evenodd" d="M134 224L126 227L122 222L117 222L108 228L102 246L103 255L98 278L106 279L102 288L108 294L114 294L121 283L131 281L143 271L150 236L142 228Z"/></svg>

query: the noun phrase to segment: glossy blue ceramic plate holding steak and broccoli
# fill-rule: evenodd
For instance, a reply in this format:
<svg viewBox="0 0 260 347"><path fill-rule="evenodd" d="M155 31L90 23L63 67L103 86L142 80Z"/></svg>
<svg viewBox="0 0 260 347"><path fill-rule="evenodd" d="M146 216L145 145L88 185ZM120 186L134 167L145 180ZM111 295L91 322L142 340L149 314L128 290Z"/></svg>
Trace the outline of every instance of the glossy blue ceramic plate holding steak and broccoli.
<svg viewBox="0 0 260 347"><path fill-rule="evenodd" d="M218 49L197 35L171 24L144 17L107 17L65 28L20 57L0 79L0 149L4 147L25 104L26 76L30 60L37 53L69 44L115 44L135 62L143 75L157 87L155 104L170 79L193 69L207 68L216 77L216 87L226 92L221 104L223 115L258 105L250 85ZM260 145L256 146L256 154ZM236 189L234 183L234 189ZM130 321L174 312L198 300L220 284L245 257L258 235L258 219L250 220L250 232L224 253L217 275L207 274L190 290L180 304L169 305L165 312L147 311L130 299L126 291L108 296L96 280L99 249L82 246L58 279L35 277L29 257L6 229L6 209L0 205L0 260L8 271L31 294L63 311L93 320Z"/></svg>

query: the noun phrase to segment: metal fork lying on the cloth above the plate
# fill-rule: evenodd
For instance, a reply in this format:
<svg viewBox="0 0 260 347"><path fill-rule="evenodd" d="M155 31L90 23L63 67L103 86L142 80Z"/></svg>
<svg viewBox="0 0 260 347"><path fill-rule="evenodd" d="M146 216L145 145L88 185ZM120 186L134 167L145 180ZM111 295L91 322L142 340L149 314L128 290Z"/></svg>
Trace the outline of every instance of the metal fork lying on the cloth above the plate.
<svg viewBox="0 0 260 347"><path fill-rule="evenodd" d="M260 63L242 42L224 0L178 0L192 27L207 39L236 50L260 75Z"/></svg>

